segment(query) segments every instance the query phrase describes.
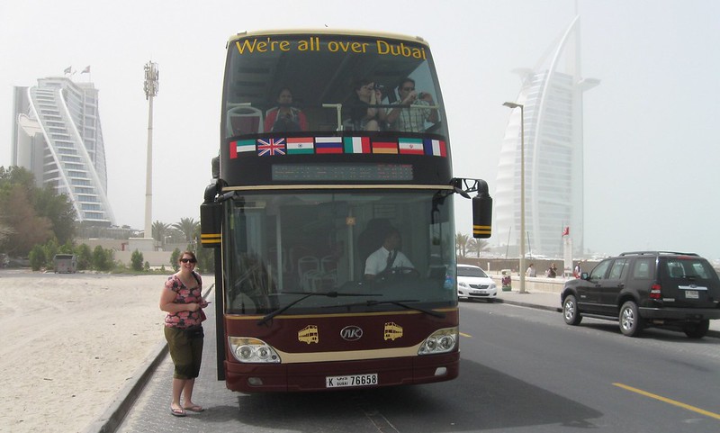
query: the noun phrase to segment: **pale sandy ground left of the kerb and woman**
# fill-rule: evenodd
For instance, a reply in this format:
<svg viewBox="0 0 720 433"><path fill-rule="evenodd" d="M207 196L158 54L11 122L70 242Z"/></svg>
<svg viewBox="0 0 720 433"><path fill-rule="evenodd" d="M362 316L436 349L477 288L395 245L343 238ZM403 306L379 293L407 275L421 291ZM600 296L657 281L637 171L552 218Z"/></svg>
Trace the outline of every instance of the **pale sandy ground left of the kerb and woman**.
<svg viewBox="0 0 720 433"><path fill-rule="evenodd" d="M164 341L165 280L0 270L0 431L79 432L102 415Z"/></svg>

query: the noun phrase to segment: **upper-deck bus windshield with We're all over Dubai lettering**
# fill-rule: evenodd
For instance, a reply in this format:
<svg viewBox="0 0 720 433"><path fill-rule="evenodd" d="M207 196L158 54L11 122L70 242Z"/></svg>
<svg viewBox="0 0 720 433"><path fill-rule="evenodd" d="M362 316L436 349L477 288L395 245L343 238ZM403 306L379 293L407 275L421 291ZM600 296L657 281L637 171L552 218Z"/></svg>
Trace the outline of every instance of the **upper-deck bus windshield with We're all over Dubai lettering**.
<svg viewBox="0 0 720 433"><path fill-rule="evenodd" d="M229 41L223 136L387 131L446 136L428 45L273 34Z"/></svg>

